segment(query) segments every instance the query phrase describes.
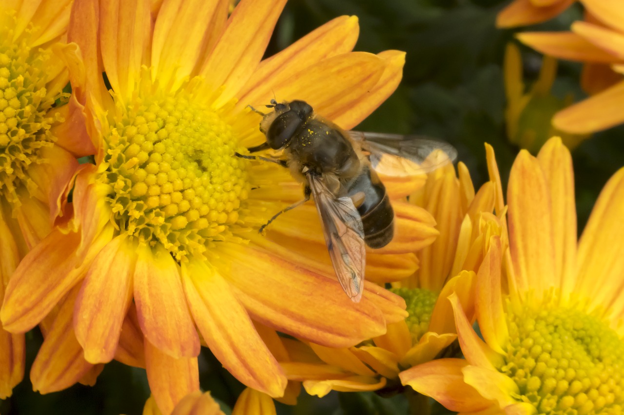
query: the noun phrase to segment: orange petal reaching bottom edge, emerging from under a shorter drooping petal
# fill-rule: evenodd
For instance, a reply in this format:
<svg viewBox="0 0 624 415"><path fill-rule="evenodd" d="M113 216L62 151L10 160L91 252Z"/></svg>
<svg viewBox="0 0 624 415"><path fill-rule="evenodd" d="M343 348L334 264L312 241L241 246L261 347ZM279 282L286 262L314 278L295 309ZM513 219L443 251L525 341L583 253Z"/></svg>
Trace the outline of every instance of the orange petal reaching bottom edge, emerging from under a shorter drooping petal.
<svg viewBox="0 0 624 415"><path fill-rule="evenodd" d="M163 414L170 414L182 398L199 390L197 358L172 358L145 341L145 368L150 390Z"/></svg>

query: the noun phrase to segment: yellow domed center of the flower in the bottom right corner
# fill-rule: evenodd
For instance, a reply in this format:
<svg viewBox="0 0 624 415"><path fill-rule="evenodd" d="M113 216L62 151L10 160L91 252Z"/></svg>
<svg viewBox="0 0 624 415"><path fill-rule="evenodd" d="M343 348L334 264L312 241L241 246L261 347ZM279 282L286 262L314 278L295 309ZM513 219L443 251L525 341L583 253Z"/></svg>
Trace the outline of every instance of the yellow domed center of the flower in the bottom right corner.
<svg viewBox="0 0 624 415"><path fill-rule="evenodd" d="M624 409L624 343L600 318L545 306L507 314L509 342L499 370L519 399L542 414L620 414Z"/></svg>

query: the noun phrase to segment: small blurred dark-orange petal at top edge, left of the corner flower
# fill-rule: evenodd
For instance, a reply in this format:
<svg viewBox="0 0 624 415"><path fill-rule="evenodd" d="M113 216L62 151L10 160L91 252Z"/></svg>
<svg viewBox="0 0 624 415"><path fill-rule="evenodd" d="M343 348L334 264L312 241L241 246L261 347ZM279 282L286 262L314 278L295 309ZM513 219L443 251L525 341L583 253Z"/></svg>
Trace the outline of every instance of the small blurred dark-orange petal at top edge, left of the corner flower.
<svg viewBox="0 0 624 415"><path fill-rule="evenodd" d="M514 0L496 16L496 27L529 26L558 16L575 0L558 0L548 6L536 6L532 0Z"/></svg>

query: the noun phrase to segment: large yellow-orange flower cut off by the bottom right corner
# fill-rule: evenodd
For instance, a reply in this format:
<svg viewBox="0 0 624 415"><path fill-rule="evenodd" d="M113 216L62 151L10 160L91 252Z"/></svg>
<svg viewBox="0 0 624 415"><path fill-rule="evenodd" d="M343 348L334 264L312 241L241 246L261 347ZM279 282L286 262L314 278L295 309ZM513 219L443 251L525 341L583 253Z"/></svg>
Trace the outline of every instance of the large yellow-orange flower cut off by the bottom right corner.
<svg viewBox="0 0 624 415"><path fill-rule="evenodd" d="M537 158L520 152L507 203L509 250L494 236L477 278L484 340L453 294L466 360L433 361L402 380L462 413L622 413L624 169L603 188L578 245L572 158L559 138Z"/></svg>

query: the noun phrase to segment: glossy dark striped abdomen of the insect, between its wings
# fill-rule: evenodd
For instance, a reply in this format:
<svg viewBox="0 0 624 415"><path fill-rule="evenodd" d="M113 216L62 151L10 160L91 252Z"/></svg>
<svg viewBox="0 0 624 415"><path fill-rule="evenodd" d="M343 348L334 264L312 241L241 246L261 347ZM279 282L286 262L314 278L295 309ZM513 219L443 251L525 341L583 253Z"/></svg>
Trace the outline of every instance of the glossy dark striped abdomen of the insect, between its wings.
<svg viewBox="0 0 624 415"><path fill-rule="evenodd" d="M364 227L364 242L371 248L381 248L389 244L394 236L394 211L386 188L377 174L366 167L349 186L349 196L364 193L364 201L358 212Z"/></svg>

